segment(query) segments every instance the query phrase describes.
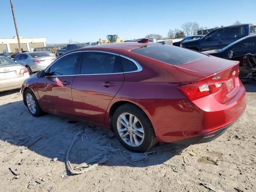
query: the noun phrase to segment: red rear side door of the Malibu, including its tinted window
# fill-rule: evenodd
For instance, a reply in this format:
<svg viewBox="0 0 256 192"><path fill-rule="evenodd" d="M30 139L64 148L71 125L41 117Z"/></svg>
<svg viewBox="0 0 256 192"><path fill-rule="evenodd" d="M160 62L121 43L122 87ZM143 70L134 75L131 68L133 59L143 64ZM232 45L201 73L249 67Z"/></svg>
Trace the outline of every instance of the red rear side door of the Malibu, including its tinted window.
<svg viewBox="0 0 256 192"><path fill-rule="evenodd" d="M106 110L124 81L118 54L84 51L72 84L76 118L103 124Z"/></svg>

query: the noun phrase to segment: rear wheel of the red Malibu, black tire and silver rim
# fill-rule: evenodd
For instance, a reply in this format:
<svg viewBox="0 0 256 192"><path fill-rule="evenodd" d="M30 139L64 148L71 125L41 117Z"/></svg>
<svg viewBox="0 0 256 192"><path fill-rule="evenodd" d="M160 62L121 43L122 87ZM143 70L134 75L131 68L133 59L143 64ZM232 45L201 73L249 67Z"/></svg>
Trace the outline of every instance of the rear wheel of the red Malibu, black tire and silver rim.
<svg viewBox="0 0 256 192"><path fill-rule="evenodd" d="M130 121L132 123L128 124L130 117L132 117L132 121ZM126 119L124 120L124 118ZM138 106L124 104L118 107L114 112L112 124L118 140L131 151L145 152L156 144L156 135L152 123ZM122 138L122 136L126 137Z"/></svg>

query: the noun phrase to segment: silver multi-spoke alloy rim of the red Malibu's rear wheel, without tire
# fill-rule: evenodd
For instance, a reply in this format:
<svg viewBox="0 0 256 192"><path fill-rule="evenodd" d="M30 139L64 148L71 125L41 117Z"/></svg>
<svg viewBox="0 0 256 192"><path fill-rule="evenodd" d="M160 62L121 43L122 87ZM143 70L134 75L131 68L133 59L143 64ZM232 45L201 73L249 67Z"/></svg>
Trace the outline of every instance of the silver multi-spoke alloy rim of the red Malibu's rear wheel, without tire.
<svg viewBox="0 0 256 192"><path fill-rule="evenodd" d="M132 147L138 147L144 140L144 129L136 116L122 113L116 122L117 131L122 140Z"/></svg>

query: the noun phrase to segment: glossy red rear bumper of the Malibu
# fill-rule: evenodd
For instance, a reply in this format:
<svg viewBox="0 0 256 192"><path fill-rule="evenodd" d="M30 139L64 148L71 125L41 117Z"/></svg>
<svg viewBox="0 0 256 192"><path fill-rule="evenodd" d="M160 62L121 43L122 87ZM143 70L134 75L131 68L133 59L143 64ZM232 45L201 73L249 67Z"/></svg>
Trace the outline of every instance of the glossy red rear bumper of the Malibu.
<svg viewBox="0 0 256 192"><path fill-rule="evenodd" d="M157 108L144 109L150 118L159 142L195 144L213 140L224 133L246 108L245 88L226 104L216 108L209 97L199 105L184 102Z"/></svg>

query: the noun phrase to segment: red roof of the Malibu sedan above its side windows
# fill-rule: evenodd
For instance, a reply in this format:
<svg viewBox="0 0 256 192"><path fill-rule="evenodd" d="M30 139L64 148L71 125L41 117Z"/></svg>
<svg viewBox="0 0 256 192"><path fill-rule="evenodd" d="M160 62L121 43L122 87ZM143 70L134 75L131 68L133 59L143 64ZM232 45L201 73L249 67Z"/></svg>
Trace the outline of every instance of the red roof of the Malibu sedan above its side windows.
<svg viewBox="0 0 256 192"><path fill-rule="evenodd" d="M140 48L145 45L152 45L152 44L158 44L154 42L148 42L148 43L138 43L138 42L123 42L123 43L105 43L100 45L94 45L94 46L87 46L79 48L78 50L87 50L87 49L100 49L100 50L107 50L107 49L117 49L117 50L125 50L130 51L136 48Z"/></svg>

